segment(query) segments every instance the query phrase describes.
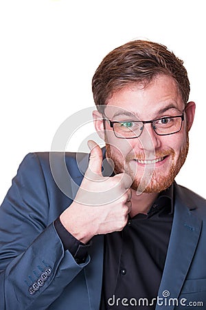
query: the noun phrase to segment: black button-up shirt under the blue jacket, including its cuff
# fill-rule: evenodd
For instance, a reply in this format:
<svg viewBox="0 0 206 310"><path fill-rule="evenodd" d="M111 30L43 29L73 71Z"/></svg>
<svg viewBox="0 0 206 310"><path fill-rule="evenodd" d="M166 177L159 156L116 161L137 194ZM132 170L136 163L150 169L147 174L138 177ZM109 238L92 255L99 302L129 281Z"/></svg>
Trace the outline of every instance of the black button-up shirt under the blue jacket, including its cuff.
<svg viewBox="0 0 206 310"><path fill-rule="evenodd" d="M155 309L152 299L157 297L168 250L173 198L172 185L161 192L148 214L137 214L128 219L122 231L104 236L100 310L134 309L135 304L138 309ZM84 246L71 236L59 218L54 225L65 249L78 263L84 262L89 245ZM148 307L142 298L147 298ZM122 302L128 305L123 306Z"/></svg>

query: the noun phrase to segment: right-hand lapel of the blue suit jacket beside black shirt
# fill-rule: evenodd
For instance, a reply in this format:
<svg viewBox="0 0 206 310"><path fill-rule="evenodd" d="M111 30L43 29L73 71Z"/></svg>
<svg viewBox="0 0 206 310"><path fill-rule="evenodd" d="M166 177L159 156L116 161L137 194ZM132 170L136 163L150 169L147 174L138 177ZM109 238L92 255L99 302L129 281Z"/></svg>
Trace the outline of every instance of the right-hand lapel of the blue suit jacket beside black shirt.
<svg viewBox="0 0 206 310"><path fill-rule="evenodd" d="M196 206L190 198L181 187L175 185L174 220L158 293L164 301L167 291L170 298L179 297L198 244L202 221L196 217ZM161 310L162 305L157 304L157 309ZM174 309L174 306L168 305L167 309Z"/></svg>

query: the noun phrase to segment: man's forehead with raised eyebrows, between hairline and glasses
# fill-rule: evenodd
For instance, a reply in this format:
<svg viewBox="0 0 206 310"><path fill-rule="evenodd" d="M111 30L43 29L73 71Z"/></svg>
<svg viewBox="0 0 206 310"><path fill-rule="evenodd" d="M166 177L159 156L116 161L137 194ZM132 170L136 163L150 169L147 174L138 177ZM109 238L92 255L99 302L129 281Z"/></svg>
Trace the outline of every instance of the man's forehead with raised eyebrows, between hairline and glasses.
<svg viewBox="0 0 206 310"><path fill-rule="evenodd" d="M159 75L148 85L128 85L113 94L105 107L106 116L133 114L138 118L153 118L161 113L182 112L184 103L176 81Z"/></svg>

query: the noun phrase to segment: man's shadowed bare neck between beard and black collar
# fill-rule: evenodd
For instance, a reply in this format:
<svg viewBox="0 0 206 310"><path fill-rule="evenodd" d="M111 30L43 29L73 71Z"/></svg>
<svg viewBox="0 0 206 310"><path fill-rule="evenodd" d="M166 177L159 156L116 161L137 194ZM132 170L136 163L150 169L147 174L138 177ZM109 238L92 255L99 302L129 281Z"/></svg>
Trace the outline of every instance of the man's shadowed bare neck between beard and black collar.
<svg viewBox="0 0 206 310"><path fill-rule="evenodd" d="M137 192L132 189L132 209L130 211L130 217L133 218L133 216L142 213L147 214L152 203L155 202L157 197L159 196L159 193L151 193L151 194L145 194L142 193L140 195L137 195Z"/></svg>

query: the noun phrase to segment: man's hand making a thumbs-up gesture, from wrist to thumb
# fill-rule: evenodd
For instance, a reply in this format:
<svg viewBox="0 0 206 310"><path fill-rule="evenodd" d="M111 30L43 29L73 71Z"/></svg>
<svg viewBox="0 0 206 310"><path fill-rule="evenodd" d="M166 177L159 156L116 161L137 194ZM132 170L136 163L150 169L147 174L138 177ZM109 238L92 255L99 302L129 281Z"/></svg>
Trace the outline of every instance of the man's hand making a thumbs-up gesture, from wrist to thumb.
<svg viewBox="0 0 206 310"><path fill-rule="evenodd" d="M128 220L132 196L130 176L102 176L102 150L94 141L88 145L89 167L73 203L60 215L62 225L84 243L97 234L121 231Z"/></svg>

